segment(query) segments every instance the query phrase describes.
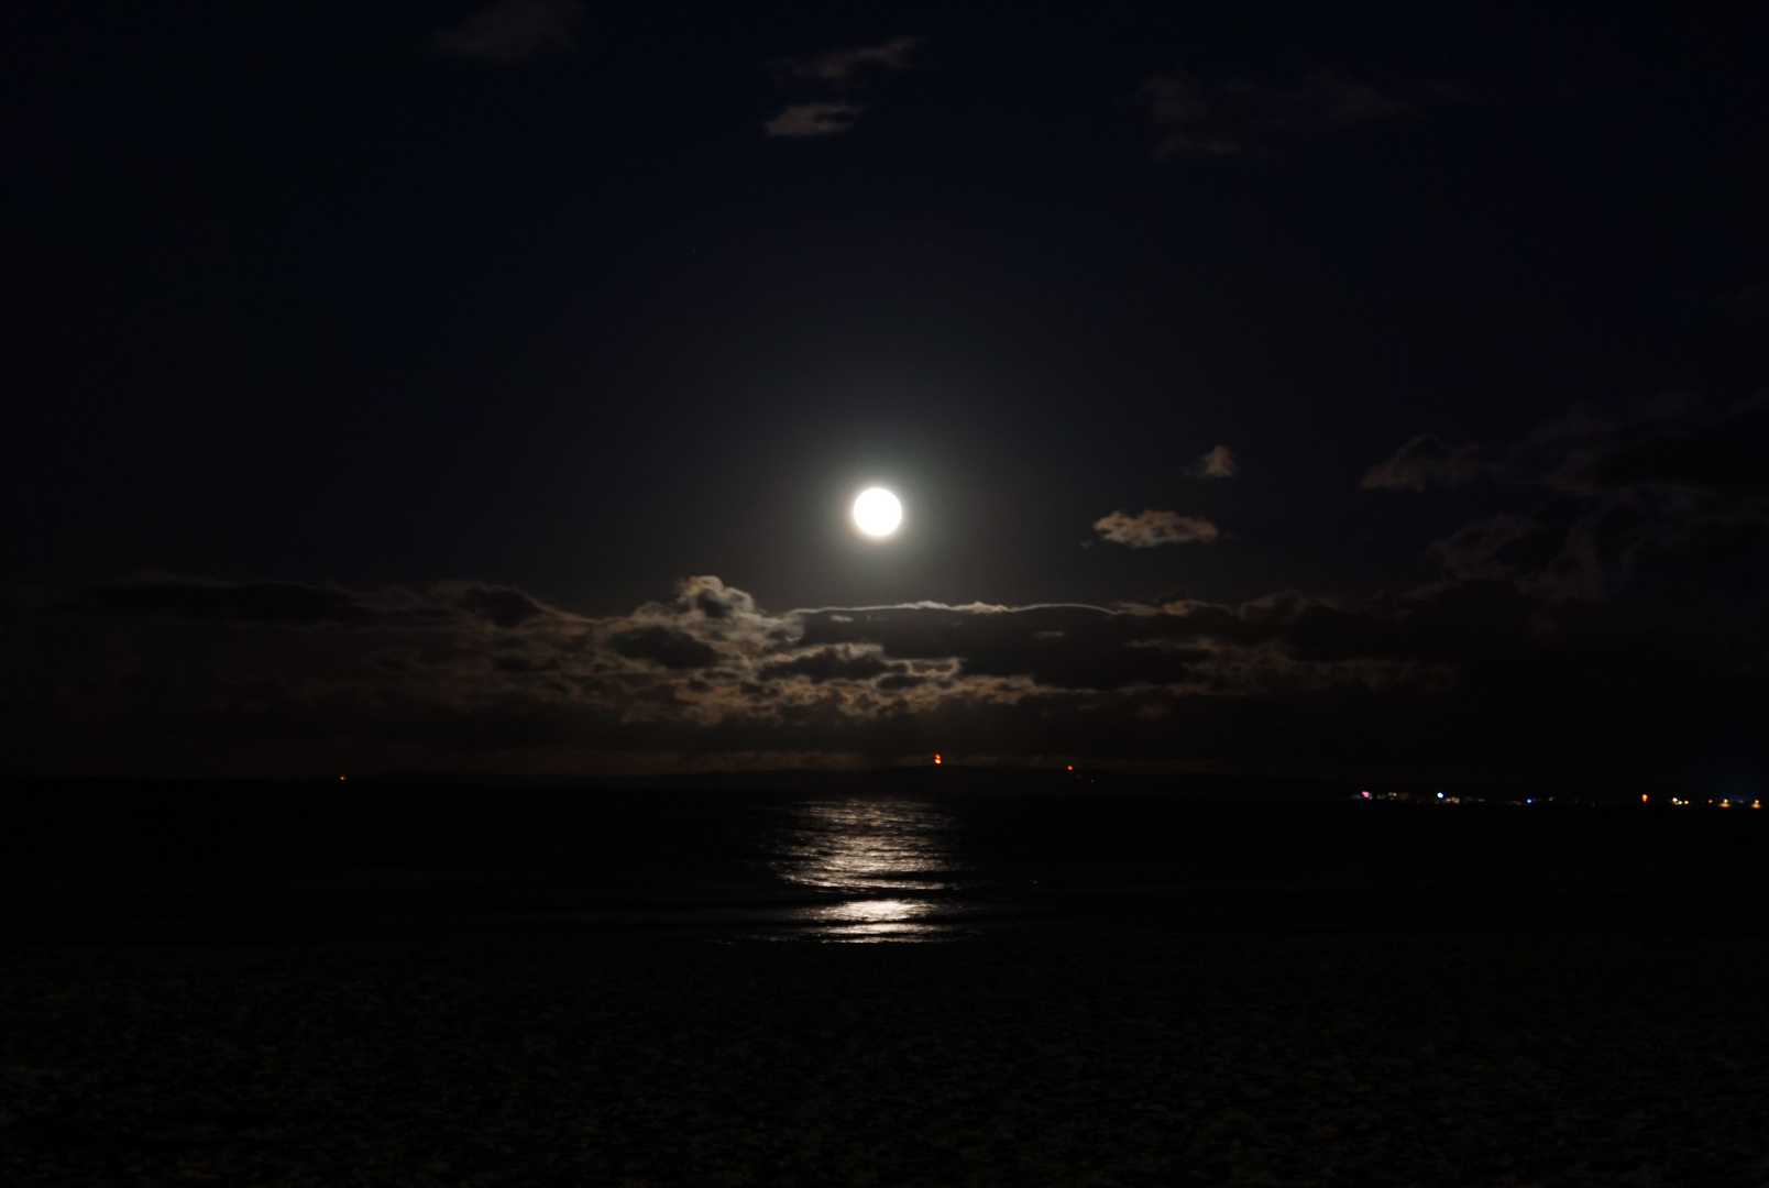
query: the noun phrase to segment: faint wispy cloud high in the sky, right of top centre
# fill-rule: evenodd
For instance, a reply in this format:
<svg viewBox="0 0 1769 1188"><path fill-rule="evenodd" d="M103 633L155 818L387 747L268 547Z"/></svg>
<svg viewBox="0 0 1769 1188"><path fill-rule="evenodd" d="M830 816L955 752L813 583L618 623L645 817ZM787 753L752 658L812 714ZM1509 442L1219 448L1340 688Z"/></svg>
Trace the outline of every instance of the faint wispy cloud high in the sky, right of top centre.
<svg viewBox="0 0 1769 1188"><path fill-rule="evenodd" d="M1313 71L1293 81L1171 71L1145 80L1137 103L1155 124L1157 157L1265 152L1281 140L1422 111L1413 101L1337 71Z"/></svg>

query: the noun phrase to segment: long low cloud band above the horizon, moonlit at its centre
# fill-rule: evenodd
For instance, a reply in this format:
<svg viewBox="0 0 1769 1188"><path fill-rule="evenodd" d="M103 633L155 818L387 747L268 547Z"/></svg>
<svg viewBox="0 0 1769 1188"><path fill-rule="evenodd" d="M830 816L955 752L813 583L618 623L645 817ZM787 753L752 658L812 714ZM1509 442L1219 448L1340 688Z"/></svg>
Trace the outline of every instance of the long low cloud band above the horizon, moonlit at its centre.
<svg viewBox="0 0 1769 1188"><path fill-rule="evenodd" d="M1737 737L1760 686L1504 580L1360 605L770 613L701 576L596 619L472 582L152 576L12 596L0 642L16 661L0 682L9 774L639 774L939 750L1346 778L1668 778L1675 757L1654 741ZM1668 693L1696 686L1712 697Z"/></svg>

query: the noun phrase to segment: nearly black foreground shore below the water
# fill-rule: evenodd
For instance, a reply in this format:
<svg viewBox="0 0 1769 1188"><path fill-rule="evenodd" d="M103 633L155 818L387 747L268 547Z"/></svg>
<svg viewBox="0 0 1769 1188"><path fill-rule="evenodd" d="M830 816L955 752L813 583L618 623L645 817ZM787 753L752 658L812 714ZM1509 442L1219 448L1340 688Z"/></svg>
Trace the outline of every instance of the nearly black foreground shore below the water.
<svg viewBox="0 0 1769 1188"><path fill-rule="evenodd" d="M1769 942L0 953L5 1184L1765 1184Z"/></svg>

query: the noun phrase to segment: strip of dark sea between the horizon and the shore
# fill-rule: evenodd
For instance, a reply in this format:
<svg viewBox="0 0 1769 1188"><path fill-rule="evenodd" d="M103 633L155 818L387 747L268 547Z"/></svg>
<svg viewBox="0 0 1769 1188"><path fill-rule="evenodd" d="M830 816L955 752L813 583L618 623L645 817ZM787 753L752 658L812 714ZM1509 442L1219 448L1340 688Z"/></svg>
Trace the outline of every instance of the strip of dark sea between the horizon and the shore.
<svg viewBox="0 0 1769 1188"><path fill-rule="evenodd" d="M7 785L0 940L1762 932L1769 813Z"/></svg>

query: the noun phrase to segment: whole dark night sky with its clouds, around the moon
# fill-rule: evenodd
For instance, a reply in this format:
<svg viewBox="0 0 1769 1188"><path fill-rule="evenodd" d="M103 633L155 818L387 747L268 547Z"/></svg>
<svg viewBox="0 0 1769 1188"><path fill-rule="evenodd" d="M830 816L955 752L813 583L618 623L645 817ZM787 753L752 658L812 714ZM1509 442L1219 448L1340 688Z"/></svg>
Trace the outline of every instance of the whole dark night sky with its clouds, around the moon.
<svg viewBox="0 0 1769 1188"><path fill-rule="evenodd" d="M1760 790L1769 41L1550 7L27 4L0 771Z"/></svg>

